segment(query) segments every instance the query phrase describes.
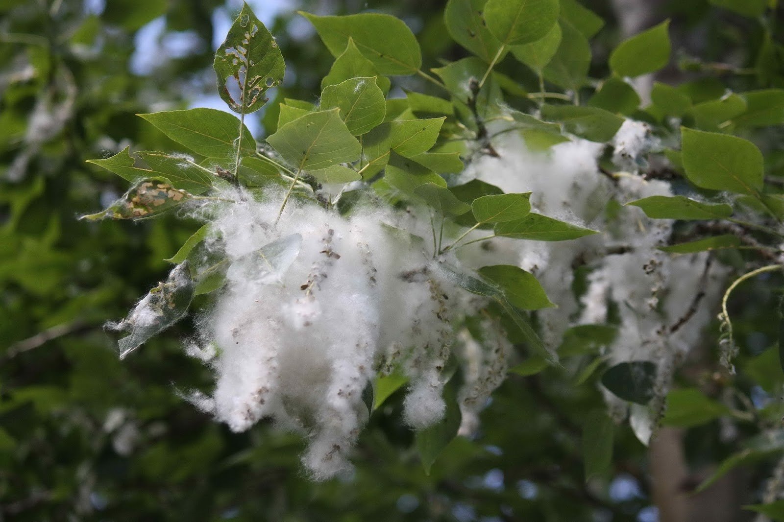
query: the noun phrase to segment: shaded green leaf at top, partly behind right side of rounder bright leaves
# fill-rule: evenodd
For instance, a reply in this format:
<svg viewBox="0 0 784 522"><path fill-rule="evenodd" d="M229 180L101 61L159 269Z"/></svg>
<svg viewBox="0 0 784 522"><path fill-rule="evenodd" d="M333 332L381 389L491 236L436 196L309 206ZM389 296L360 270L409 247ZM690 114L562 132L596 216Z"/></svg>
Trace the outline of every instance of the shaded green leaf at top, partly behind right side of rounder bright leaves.
<svg viewBox="0 0 784 522"><path fill-rule="evenodd" d="M585 36L566 20L561 20L561 44L544 67L548 82L576 91L586 81L590 67L590 44Z"/></svg>

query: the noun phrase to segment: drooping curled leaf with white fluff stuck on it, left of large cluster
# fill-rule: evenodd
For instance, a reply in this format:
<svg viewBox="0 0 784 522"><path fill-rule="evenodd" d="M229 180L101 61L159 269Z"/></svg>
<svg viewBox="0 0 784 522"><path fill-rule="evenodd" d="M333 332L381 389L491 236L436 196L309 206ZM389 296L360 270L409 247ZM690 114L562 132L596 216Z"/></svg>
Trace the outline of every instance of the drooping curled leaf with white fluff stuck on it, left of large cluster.
<svg viewBox="0 0 784 522"><path fill-rule="evenodd" d="M177 265L169 278L153 288L136 304L128 317L111 326L129 335L118 341L120 358L136 350L153 335L180 321L194 296L194 283L187 262Z"/></svg>

